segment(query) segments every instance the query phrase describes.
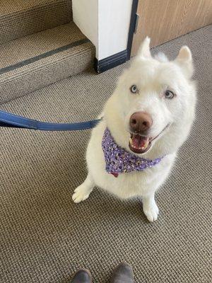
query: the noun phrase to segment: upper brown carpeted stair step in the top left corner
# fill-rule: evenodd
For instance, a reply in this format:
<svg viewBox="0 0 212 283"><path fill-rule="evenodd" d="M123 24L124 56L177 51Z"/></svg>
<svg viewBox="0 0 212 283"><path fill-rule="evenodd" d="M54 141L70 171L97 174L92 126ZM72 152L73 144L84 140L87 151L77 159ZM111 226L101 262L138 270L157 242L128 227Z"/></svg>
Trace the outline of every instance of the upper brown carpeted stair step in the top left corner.
<svg viewBox="0 0 212 283"><path fill-rule="evenodd" d="M71 0L0 1L0 44L72 20Z"/></svg>

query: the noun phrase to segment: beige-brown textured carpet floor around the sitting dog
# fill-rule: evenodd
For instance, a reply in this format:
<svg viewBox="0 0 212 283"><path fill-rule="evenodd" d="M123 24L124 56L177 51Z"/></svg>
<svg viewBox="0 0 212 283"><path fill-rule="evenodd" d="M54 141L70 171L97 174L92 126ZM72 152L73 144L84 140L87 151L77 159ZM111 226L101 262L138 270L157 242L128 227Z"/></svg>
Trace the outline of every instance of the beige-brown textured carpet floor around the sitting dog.
<svg viewBox="0 0 212 283"><path fill-rule="evenodd" d="M153 224L139 199L121 201L98 188L73 204L86 177L89 130L0 129L0 282L68 283L78 267L89 268L94 282L109 282L122 261L133 266L136 283L211 282L211 27L153 50L174 58L189 45L199 81L196 122L158 192ZM64 79L1 109L58 122L96 117L128 65Z"/></svg>

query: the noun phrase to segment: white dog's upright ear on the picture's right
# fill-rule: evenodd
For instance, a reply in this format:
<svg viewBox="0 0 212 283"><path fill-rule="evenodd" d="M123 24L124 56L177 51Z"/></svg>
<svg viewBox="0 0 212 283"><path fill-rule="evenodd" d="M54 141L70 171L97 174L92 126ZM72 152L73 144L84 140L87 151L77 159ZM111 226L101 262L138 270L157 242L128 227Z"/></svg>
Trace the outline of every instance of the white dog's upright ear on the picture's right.
<svg viewBox="0 0 212 283"><path fill-rule="evenodd" d="M175 59L175 62L179 65L179 67L182 68L185 76L189 78L192 77L192 75L194 74L194 66L192 60L192 52L191 50L189 50L189 47L187 47L186 45L181 47L179 54Z"/></svg>

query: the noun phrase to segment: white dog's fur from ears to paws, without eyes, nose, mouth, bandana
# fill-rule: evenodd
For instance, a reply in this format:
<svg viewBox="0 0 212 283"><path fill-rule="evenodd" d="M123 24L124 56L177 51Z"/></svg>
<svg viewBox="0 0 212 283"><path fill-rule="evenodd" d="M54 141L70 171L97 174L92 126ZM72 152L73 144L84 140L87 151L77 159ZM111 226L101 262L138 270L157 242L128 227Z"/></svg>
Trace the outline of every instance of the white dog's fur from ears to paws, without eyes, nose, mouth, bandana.
<svg viewBox="0 0 212 283"><path fill-rule="evenodd" d="M194 120L196 88L191 79L193 64L188 47L182 47L175 61L169 62L164 55L159 55L158 59L151 57L149 43L150 39L146 37L131 67L119 78L117 88L105 104L100 115L104 118L93 129L88 143L88 176L74 191L73 201L86 200L97 185L122 199L142 197L143 212L149 221L155 221L158 219L155 191L169 175L177 150L188 137ZM132 85L139 88L138 94L131 93ZM176 93L172 100L163 96L167 88ZM146 154L137 155L150 159L165 158L143 172L121 173L114 178L105 171L102 135L108 127L117 144L130 151L129 117L138 111L151 115L151 137L160 134L167 124L170 126L153 141Z"/></svg>

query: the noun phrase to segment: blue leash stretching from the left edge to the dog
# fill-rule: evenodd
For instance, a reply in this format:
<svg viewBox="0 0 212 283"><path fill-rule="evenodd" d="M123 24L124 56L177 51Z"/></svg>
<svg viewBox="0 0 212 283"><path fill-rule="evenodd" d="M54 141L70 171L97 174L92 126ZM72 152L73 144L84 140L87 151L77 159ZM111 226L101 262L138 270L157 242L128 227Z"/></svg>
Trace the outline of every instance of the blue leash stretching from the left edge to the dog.
<svg viewBox="0 0 212 283"><path fill-rule="evenodd" d="M0 110L0 127L39 129L41 131L76 131L80 129L91 129L95 127L100 120L101 119L65 124L49 123L40 122Z"/></svg>

